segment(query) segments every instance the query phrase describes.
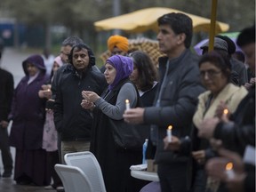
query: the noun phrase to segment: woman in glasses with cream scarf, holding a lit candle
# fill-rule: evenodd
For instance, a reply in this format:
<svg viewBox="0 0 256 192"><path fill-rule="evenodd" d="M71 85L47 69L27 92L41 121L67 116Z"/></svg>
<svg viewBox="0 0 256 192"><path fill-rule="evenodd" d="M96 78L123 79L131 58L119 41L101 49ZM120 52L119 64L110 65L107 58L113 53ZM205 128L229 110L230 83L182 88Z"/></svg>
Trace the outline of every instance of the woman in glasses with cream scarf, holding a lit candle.
<svg viewBox="0 0 256 192"><path fill-rule="evenodd" d="M209 150L208 140L199 139L197 136L198 127L206 118L216 116L216 109L220 102L228 106L228 111L233 113L239 102L247 94L244 87L237 87L230 83L231 64L227 57L218 52L206 53L199 60L199 69L202 84L208 90L198 97L196 113L193 116L194 129L190 138L178 138L172 136L172 142L164 139L165 148L180 151L190 155L196 160L196 180L194 191L204 191L206 180L204 175L204 163L213 156ZM191 146L192 145L192 146Z"/></svg>

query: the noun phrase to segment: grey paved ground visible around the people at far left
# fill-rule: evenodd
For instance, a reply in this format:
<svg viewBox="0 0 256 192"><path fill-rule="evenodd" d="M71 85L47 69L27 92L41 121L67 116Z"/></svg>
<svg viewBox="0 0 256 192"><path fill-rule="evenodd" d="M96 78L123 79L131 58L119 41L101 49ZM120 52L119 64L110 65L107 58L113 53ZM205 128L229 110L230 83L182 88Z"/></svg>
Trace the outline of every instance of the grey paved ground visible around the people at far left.
<svg viewBox="0 0 256 192"><path fill-rule="evenodd" d="M36 53L36 52L33 52ZM21 67L21 62L26 60L28 56L32 54L24 51L17 51L13 49L6 48L1 61L1 67L10 71L14 77L15 86L20 82L22 76L24 76L23 69ZM10 132L10 128L8 129ZM12 157L14 159L15 149L11 148ZM3 164L2 158L0 159L0 172L3 173ZM0 178L0 192L46 192L54 190L45 190L44 187L35 187L35 186L20 186L16 185L15 181L12 178L5 179Z"/></svg>

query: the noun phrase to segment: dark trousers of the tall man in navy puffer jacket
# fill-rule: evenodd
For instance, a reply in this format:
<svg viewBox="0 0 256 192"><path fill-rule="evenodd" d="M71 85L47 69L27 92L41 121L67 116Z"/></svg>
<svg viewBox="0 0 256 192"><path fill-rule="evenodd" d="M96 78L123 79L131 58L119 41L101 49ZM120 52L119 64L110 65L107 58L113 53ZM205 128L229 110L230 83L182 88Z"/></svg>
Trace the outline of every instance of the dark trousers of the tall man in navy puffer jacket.
<svg viewBox="0 0 256 192"><path fill-rule="evenodd" d="M187 164L158 164L157 174L162 192L188 192Z"/></svg>

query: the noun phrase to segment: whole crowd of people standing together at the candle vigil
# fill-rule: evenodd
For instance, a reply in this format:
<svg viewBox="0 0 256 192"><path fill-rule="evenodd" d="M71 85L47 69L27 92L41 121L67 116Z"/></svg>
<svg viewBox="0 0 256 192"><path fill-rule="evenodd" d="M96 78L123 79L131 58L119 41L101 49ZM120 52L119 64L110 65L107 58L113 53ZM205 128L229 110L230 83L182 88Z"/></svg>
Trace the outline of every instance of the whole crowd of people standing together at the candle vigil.
<svg viewBox="0 0 256 192"><path fill-rule="evenodd" d="M77 36L66 38L55 58L45 50L23 60L15 89L12 74L0 68L2 177L12 176L12 146L19 185L64 191L54 164L65 164L68 153L91 151L110 192L255 191L255 25L237 37L243 52L228 36L215 36L213 51L206 42L199 56L190 49L188 15L167 13L157 23L165 54L158 68L119 35L109 36L111 55L100 69ZM109 119L143 124L159 182L132 178L130 166L142 163L142 146L117 148Z"/></svg>

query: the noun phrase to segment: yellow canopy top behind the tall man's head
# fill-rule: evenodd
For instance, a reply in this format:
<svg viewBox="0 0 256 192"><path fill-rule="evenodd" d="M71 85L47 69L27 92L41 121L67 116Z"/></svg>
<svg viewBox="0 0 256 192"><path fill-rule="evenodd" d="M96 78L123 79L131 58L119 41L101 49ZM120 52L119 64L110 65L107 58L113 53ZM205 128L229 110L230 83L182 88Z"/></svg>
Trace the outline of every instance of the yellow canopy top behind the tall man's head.
<svg viewBox="0 0 256 192"><path fill-rule="evenodd" d="M94 22L96 30L111 30L121 29L129 33L141 33L147 30L158 30L157 18L161 17L165 13L169 12L180 12L179 10L153 7L141 9L135 12L130 12L106 20L99 20ZM190 14L188 12L182 12L187 14L193 20L194 32L204 31L209 32L211 26L211 20ZM228 31L229 25L220 21L216 22L215 32Z"/></svg>

